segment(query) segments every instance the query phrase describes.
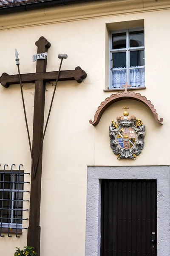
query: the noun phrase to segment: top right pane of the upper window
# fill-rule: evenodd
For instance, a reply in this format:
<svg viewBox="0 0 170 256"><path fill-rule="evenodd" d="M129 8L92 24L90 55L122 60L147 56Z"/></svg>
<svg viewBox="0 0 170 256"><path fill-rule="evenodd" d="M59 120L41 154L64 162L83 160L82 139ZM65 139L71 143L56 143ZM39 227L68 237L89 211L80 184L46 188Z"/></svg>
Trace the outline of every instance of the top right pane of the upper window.
<svg viewBox="0 0 170 256"><path fill-rule="evenodd" d="M130 34L130 47L144 46L144 31L129 32Z"/></svg>

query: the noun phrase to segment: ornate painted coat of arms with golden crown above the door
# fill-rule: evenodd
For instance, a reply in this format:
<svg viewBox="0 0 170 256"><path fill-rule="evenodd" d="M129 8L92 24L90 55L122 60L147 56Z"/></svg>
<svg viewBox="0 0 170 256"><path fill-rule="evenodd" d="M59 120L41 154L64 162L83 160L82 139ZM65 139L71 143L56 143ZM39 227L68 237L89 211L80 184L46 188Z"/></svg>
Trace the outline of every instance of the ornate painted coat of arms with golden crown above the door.
<svg viewBox="0 0 170 256"><path fill-rule="evenodd" d="M141 119L129 116L125 106L123 116L117 116L118 124L112 120L109 136L113 153L117 159L130 158L135 160L144 148L145 126Z"/></svg>

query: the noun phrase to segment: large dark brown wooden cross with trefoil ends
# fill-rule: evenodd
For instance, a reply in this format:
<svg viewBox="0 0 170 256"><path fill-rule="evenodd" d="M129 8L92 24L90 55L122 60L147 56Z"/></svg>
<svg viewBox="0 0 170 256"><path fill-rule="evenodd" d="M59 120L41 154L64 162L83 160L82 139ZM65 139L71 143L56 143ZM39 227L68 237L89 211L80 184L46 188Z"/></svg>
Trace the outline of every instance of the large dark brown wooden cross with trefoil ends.
<svg viewBox="0 0 170 256"><path fill-rule="evenodd" d="M44 38L35 43L37 53L47 52L51 44ZM55 81L57 79L58 71L46 72L47 59L38 59L36 66L36 73L22 74L22 83L35 82L35 96L34 96L34 122L33 122L33 143L32 154L34 163L37 162L37 157L40 150L40 144L43 136L44 127L44 108L45 108L45 82ZM80 67L75 70L61 71L59 81L76 80L81 82L87 74ZM3 73L0 77L0 83L4 87L10 84L19 84L19 75L9 76ZM40 153L39 163L37 166L37 175L34 177L33 168L31 168L31 194L30 194L30 215L27 245L33 246L40 256L40 199L41 199L41 176L42 176L42 150Z"/></svg>

